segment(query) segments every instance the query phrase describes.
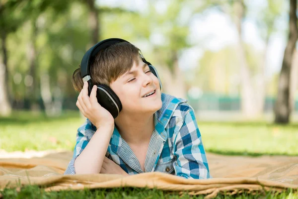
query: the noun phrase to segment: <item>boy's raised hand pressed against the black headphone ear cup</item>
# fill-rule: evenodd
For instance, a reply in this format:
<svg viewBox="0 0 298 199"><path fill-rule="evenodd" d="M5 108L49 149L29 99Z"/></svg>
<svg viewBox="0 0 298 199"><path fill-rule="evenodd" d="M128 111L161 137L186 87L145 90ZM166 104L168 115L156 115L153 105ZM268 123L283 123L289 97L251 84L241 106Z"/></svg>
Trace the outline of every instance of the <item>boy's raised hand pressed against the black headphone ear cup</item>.
<svg viewBox="0 0 298 199"><path fill-rule="evenodd" d="M94 85L89 98L88 83L84 82L83 89L77 97L76 106L83 115L96 126L96 128L99 128L100 126L114 127L114 117L97 102L96 91L97 87Z"/></svg>

